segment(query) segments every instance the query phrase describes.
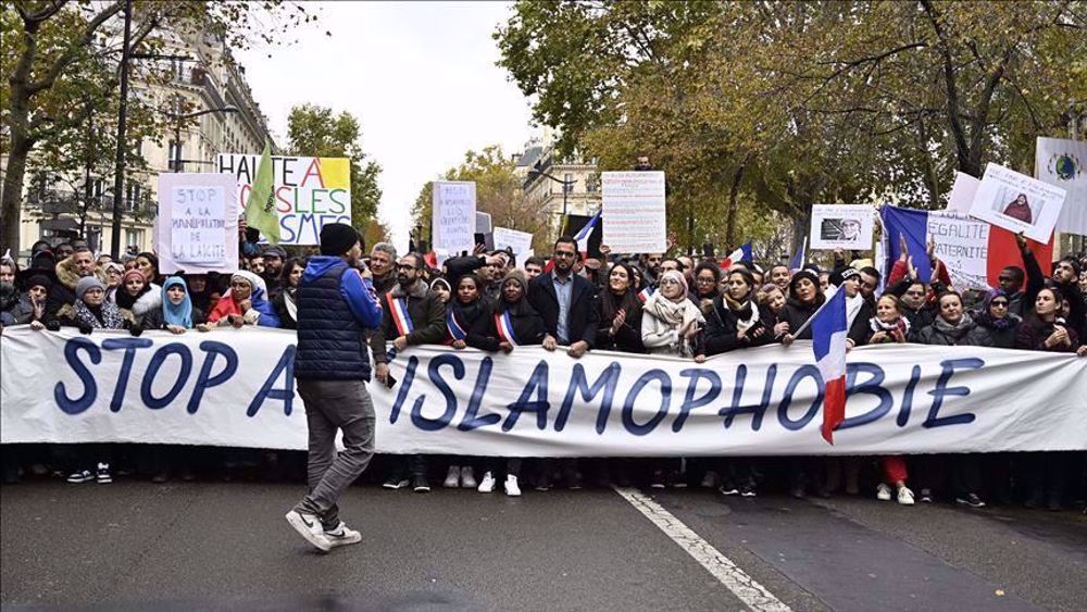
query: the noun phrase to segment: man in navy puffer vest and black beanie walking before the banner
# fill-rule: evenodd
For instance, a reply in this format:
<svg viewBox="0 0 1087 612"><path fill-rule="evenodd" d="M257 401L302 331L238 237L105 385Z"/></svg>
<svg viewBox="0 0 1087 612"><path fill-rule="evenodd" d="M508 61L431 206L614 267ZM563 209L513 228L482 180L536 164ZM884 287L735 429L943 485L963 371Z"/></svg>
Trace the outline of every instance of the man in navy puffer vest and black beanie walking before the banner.
<svg viewBox="0 0 1087 612"><path fill-rule="evenodd" d="M355 267L362 252L362 239L350 225L325 225L321 255L310 259L298 286L295 377L309 425L309 494L287 513L287 522L324 551L362 539L339 520L336 501L374 455L365 335L380 325L382 309L370 278ZM343 432L345 447L338 454L337 429Z"/></svg>

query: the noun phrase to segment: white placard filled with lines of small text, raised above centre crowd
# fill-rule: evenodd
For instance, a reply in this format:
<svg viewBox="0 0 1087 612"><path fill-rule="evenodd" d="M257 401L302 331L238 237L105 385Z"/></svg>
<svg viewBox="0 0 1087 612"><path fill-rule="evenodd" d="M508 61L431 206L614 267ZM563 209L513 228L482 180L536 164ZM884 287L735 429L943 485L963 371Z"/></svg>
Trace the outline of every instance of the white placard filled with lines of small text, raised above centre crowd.
<svg viewBox="0 0 1087 612"><path fill-rule="evenodd" d="M662 253L667 250L664 173L604 172L604 234L613 253Z"/></svg>

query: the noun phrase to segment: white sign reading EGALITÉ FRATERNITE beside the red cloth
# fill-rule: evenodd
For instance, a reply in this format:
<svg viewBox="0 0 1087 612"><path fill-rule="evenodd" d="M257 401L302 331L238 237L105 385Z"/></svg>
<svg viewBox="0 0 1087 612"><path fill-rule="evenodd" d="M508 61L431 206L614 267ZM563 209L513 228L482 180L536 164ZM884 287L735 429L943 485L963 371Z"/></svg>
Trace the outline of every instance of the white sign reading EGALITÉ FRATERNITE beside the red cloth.
<svg viewBox="0 0 1087 612"><path fill-rule="evenodd" d="M933 254L959 290L988 289L989 224L948 211L928 212Z"/></svg>

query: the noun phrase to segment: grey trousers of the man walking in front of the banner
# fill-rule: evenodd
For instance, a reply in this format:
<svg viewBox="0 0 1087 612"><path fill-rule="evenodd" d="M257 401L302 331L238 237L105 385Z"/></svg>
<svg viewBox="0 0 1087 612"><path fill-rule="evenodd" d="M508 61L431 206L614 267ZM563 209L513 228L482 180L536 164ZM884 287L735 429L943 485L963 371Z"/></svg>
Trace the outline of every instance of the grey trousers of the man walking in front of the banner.
<svg viewBox="0 0 1087 612"><path fill-rule="evenodd" d="M295 510L315 514L326 529L339 524L339 496L374 457L374 402L362 380L299 380L310 432L309 495ZM336 452L336 429L343 450Z"/></svg>

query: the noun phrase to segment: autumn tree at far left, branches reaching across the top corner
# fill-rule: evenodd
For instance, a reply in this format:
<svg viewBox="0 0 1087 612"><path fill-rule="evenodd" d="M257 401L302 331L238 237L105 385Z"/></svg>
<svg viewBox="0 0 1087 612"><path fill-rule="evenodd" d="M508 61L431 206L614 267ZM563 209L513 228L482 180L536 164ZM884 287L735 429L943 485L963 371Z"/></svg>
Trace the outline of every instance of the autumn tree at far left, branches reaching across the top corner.
<svg viewBox="0 0 1087 612"><path fill-rule="evenodd" d="M12 0L0 7L0 62L4 66L0 152L7 155L0 193L3 248L17 252L20 247L23 186L35 149L48 145L54 151L67 149L72 153L70 145L77 140L73 130L84 129L92 114L99 120L96 123L108 125L97 115L110 110L112 102L107 100L117 98L117 64L124 51L117 33L124 8L124 0ZM245 48L252 39L279 40L291 32L289 26L312 18L304 7L280 1L135 0L128 51L153 54L162 48L161 35L166 29L213 34L230 48ZM137 63L133 66L139 70ZM153 66L147 68L140 78L153 78L154 72ZM135 98L130 96L129 102ZM138 111L137 102L133 112ZM129 135L133 151L137 138L161 129L154 127L153 118L149 118L148 130L138 128L137 116L134 120Z"/></svg>

